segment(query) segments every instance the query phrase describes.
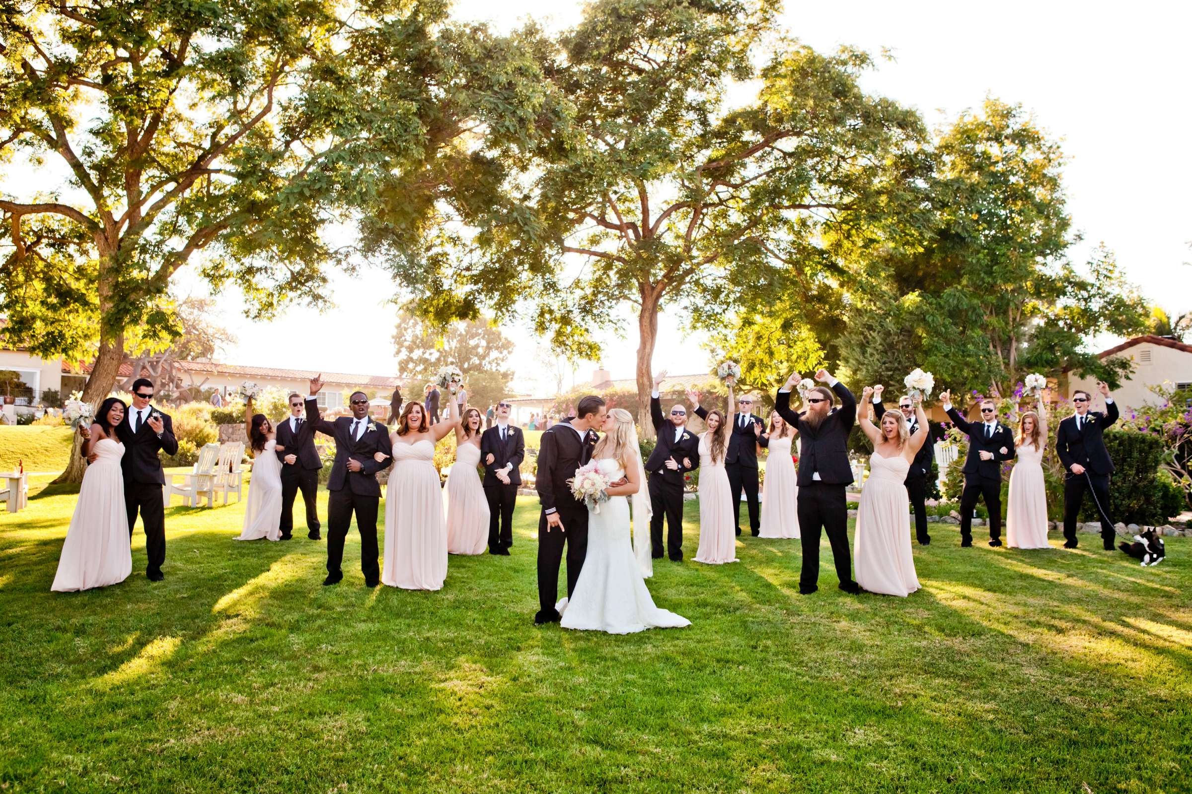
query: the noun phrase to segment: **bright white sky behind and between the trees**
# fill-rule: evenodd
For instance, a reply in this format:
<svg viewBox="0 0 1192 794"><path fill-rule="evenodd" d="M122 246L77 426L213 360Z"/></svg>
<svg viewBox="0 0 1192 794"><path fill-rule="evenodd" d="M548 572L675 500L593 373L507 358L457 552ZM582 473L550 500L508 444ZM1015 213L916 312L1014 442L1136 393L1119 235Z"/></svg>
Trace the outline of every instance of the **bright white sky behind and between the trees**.
<svg viewBox="0 0 1192 794"><path fill-rule="evenodd" d="M459 17L504 30L526 18L565 27L581 8L570 0L457 2ZM1104 240L1147 298L1168 311L1192 310L1192 268L1180 267L1192 261L1192 4L788 1L783 24L820 50L892 50L896 61L867 77L867 89L917 107L932 125L979 106L986 94L1020 102L1063 139L1069 210L1085 237L1076 261ZM340 276L329 296L335 307L322 314L294 308L267 325L248 323L228 300L224 321L240 343L225 360L390 374L395 310L384 298L391 293L381 274ZM710 365L701 339L683 337L678 326L679 318L662 318L654 368L685 374ZM627 330L627 338L606 340L614 377L633 376L635 324ZM514 340L515 387L545 387L535 377L535 339L522 329L505 332ZM576 381L588 381L591 369L581 365Z"/></svg>

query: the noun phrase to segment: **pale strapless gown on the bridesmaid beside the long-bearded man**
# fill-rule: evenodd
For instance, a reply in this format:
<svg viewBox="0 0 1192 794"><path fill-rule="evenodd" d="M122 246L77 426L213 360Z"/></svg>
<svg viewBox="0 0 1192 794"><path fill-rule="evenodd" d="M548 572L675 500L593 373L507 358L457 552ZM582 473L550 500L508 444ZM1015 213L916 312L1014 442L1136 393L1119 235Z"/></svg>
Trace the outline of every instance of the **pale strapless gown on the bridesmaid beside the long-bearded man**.
<svg viewBox="0 0 1192 794"><path fill-rule="evenodd" d="M919 589L911 552L911 500L906 473L911 463L901 455L869 456L869 479L857 506L857 584L870 593L907 596Z"/></svg>

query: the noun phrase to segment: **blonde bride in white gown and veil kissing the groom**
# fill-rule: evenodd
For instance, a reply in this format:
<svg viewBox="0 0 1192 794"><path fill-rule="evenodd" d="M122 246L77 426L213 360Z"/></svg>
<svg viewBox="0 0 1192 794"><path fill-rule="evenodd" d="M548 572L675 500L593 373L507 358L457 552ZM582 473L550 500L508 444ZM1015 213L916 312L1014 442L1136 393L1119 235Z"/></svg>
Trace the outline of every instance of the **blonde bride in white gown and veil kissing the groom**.
<svg viewBox="0 0 1192 794"><path fill-rule="evenodd" d="M642 571L650 567L650 500L642 493L645 467L633 415L613 408L592 459L614 482L608 501L589 508L588 554L575 593L559 602L564 629L631 634L646 629L690 626L687 618L659 609L650 598ZM629 545L629 500L633 500L634 549Z"/></svg>

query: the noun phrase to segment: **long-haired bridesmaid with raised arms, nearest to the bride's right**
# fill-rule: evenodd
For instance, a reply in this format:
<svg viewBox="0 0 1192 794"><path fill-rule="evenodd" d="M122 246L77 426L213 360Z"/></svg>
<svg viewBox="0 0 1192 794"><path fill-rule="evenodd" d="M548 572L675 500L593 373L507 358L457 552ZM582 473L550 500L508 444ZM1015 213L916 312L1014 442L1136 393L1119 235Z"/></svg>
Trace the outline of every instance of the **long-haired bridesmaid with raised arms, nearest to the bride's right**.
<svg viewBox="0 0 1192 794"><path fill-rule="evenodd" d="M733 400L733 379L728 385L728 405ZM695 392L687 393L691 413L700 407ZM720 565L737 562L737 521L733 518L733 494L725 470L728 451L728 423L725 413L713 408L704 418L708 430L700 436L700 548L695 562Z"/></svg>

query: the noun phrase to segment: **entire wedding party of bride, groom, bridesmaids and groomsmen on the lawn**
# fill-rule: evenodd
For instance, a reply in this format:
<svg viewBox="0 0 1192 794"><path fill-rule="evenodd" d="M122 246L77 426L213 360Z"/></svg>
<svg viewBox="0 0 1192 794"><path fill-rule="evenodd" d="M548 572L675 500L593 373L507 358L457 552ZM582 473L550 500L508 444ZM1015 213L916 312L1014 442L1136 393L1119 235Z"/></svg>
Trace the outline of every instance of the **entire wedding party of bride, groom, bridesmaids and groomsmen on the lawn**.
<svg viewBox="0 0 1192 794"><path fill-rule="evenodd" d="M733 365L735 367L735 365ZM918 371L918 370L917 370ZM535 487L541 504L538 531L538 624L631 633L651 627L679 627L689 621L658 608L646 587L653 561L683 559L684 475L699 469L700 538L694 561L737 562L740 502L751 534L799 539L799 592L812 594L819 582L820 537L827 534L838 587L907 596L919 589L911 549L911 515L920 544L927 534L925 494L931 470L930 427L924 390L908 388L896 409L886 409L884 388L865 386L862 411L852 392L820 369L815 380L791 375L775 396L769 421L753 413L750 394L734 396L739 370L718 371L727 405L704 405L688 392L689 405L676 404L664 415L654 380L651 419L656 445L642 459L633 415L609 408L598 395L579 400L575 415L544 431ZM930 381L930 374L926 374ZM447 418L424 401L404 406L395 398L391 423L370 417L368 396L349 398L349 417L324 419L311 380L309 394L291 394L290 417L274 426L246 406L246 431L255 458L244 519L237 540L287 540L293 502L306 505L308 538L322 539L317 489L322 461L315 434L334 440L335 459L327 483L325 586L343 577L343 548L353 519L361 538L360 567L368 587L437 590L447 577L449 555L508 556L513 513L521 484L526 442L509 421L511 405L496 406L491 426L485 415L459 399L461 374L446 373L451 389ZM909 382L909 376L908 376ZM1101 433L1118 418L1105 383L1098 383L1104 412L1091 411L1092 395L1073 395L1075 414L1056 433L1056 452L1067 469L1064 546L1076 546L1076 519L1091 495L1101 519L1105 549L1113 549L1109 517L1109 477L1113 463ZM927 386L930 393L930 385ZM793 394L801 402L793 407ZM89 462L79 493L51 589L81 590L113 584L131 573L130 539L139 511L151 581L161 581L166 558L164 474L159 451L178 449L170 417L151 406L154 387L141 379L132 405L108 398L89 426L80 424ZM1017 432L997 415L997 404L980 404L980 421L969 421L939 395L960 431L968 436L961 494L961 545L971 546L971 518L979 500L989 513L989 545L1001 545L1002 465L1016 461L1006 511L1007 545L1049 548L1047 494L1042 457L1048 431L1039 396L1037 411L1022 414ZM735 406L735 411L733 407ZM690 413L689 413L690 412ZM689 415L704 430L688 427ZM853 483L848 438L858 423L873 445L869 476L861 489L855 551L848 537L846 490ZM435 444L455 434L457 459L446 486L434 465ZM797 446L796 446L797 444ZM764 489L758 454L768 451ZM795 459L797 458L797 467ZM381 498L378 474L390 469L385 496L384 552L377 521ZM483 477L480 473L483 471ZM663 525L666 525L665 544ZM381 559L383 556L383 559ZM558 599L559 573L566 561L566 596Z"/></svg>

